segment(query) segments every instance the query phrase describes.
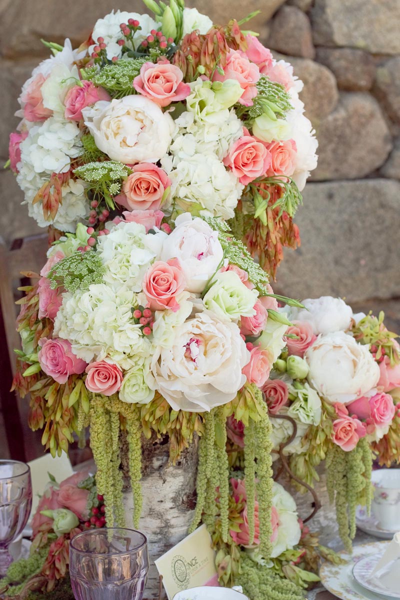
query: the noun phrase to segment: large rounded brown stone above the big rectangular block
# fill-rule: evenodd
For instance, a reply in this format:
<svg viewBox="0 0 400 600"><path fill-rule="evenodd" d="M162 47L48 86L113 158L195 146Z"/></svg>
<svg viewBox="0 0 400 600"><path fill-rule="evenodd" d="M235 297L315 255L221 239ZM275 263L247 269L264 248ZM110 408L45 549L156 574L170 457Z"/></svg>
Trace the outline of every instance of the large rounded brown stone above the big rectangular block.
<svg viewBox="0 0 400 600"><path fill-rule="evenodd" d="M336 109L315 126L318 167L312 179L355 179L378 169L392 149L379 104L366 92L342 92Z"/></svg>

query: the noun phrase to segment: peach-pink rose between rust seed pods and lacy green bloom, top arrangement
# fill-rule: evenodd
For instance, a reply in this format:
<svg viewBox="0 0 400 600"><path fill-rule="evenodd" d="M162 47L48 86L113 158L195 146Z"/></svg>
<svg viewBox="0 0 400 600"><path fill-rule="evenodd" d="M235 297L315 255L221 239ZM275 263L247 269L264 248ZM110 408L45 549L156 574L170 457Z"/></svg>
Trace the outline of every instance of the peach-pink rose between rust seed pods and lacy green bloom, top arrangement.
<svg viewBox="0 0 400 600"><path fill-rule="evenodd" d="M227 54L227 63L224 68L224 74L215 70L213 79L216 81L226 81L227 79L236 79L243 89L243 94L239 98L240 104L252 106L252 98L257 96L256 83L260 79L260 70L254 62L250 62L246 56L242 56L236 50L230 50Z"/></svg>

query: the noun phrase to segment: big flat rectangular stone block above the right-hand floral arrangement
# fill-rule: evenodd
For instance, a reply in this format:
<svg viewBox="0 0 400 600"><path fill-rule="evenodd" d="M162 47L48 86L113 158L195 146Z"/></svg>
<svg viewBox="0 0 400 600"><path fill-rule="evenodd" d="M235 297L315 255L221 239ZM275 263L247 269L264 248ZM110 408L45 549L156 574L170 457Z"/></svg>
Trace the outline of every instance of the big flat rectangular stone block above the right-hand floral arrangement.
<svg viewBox="0 0 400 600"><path fill-rule="evenodd" d="M274 289L292 298L400 296L400 182L309 183L296 214L302 245L285 251ZM392 241L392 243L390 243Z"/></svg>

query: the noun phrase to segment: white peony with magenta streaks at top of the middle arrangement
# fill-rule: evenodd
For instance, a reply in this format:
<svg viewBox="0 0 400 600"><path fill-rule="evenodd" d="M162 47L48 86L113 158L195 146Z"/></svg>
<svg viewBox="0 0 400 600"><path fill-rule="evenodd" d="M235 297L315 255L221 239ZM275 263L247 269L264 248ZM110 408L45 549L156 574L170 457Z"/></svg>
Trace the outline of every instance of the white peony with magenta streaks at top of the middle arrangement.
<svg viewBox="0 0 400 600"><path fill-rule="evenodd" d="M190 213L179 215L175 229L165 239L161 260L177 258L187 280L188 292L203 292L207 281L222 266L224 251L218 232Z"/></svg>

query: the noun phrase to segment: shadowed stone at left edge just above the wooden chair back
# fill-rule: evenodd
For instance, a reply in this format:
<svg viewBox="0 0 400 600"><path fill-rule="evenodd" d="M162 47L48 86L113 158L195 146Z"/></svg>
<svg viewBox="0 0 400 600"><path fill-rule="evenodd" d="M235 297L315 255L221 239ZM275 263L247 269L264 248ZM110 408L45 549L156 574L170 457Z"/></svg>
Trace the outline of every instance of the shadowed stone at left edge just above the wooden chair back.
<svg viewBox="0 0 400 600"><path fill-rule="evenodd" d="M2 238L10 243L45 230L29 217L28 208L21 205L23 193L17 185L14 173L0 166L0 230Z"/></svg>

